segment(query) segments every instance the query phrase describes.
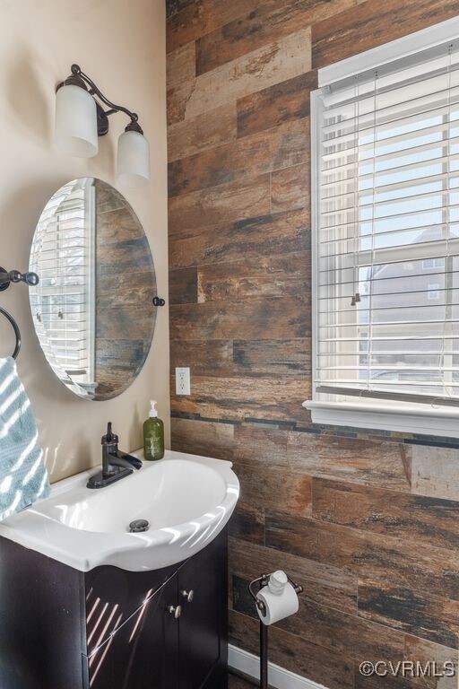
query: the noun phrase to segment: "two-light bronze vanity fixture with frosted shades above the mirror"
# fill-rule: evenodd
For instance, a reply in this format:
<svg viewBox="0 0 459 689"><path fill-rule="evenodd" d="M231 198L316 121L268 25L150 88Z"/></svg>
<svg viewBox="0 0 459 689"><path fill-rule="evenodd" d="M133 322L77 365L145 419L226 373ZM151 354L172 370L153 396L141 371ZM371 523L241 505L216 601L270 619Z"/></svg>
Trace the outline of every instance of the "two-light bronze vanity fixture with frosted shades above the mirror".
<svg viewBox="0 0 459 689"><path fill-rule="evenodd" d="M99 149L98 136L108 133L108 116L124 112L131 119L118 139L117 181L126 187L142 187L150 180L150 146L135 112L115 105L79 65L56 86L56 131L58 148L77 158L91 158ZM97 97L97 99L96 99ZM105 110L100 104L108 106Z"/></svg>

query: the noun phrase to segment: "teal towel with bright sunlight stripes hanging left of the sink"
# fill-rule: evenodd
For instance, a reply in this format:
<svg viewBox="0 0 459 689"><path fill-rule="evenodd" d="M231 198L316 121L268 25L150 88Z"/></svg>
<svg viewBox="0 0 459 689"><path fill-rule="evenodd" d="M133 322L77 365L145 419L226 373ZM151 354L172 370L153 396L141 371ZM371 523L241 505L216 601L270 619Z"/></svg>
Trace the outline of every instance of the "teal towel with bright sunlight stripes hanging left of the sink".
<svg viewBox="0 0 459 689"><path fill-rule="evenodd" d="M14 359L0 359L0 521L48 493L48 471L29 397Z"/></svg>

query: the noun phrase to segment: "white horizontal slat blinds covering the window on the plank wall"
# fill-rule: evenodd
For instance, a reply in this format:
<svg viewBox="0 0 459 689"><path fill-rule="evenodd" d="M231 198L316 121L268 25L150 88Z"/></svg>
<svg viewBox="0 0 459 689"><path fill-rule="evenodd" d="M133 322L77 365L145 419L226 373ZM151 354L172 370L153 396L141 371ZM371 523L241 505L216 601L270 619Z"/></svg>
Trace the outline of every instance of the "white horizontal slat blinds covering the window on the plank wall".
<svg viewBox="0 0 459 689"><path fill-rule="evenodd" d="M315 102L315 397L457 405L459 41Z"/></svg>

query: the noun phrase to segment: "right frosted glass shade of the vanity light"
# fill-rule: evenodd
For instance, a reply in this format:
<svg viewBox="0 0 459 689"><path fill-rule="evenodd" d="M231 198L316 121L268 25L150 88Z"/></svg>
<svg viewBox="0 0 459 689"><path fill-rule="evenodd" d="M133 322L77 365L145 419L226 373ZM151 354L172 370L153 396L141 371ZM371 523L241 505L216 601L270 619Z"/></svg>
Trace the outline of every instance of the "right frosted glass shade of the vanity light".
<svg viewBox="0 0 459 689"><path fill-rule="evenodd" d="M140 132L127 131L118 139L117 181L125 187L150 181L150 144Z"/></svg>

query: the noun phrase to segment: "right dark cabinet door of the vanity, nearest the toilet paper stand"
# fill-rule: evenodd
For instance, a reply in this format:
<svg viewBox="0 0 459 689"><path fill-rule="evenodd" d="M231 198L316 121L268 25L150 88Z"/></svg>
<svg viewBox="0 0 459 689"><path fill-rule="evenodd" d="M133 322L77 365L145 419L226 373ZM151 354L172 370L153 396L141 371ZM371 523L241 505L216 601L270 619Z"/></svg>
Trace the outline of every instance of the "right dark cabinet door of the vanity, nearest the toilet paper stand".
<svg viewBox="0 0 459 689"><path fill-rule="evenodd" d="M180 689L226 685L227 589L225 531L178 572Z"/></svg>

